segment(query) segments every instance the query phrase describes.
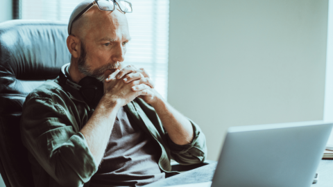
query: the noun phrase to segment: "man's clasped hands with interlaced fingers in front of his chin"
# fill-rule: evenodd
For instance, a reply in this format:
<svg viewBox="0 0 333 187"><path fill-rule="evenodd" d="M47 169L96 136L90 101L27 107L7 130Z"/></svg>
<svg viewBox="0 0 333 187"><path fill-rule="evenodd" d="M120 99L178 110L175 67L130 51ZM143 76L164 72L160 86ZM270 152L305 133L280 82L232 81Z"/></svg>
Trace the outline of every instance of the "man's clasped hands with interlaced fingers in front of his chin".
<svg viewBox="0 0 333 187"><path fill-rule="evenodd" d="M154 87L154 83L144 69L136 69L135 66L128 65L121 70L117 69L105 79L103 97L121 106L130 103L136 97L153 104L160 97Z"/></svg>

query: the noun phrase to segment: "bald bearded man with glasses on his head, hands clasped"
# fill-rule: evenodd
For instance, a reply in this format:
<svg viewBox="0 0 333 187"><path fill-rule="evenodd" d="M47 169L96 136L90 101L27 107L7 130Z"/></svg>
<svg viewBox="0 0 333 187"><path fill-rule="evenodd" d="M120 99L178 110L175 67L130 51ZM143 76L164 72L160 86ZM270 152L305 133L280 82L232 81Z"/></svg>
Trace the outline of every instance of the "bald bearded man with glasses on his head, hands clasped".
<svg viewBox="0 0 333 187"><path fill-rule="evenodd" d="M24 103L22 141L38 187L143 186L176 175L170 159L206 157L198 125L163 100L144 69L122 67L130 41L123 2L113 11L96 2L83 1L69 19L68 81L47 81ZM75 89L92 77L103 82L96 105Z"/></svg>

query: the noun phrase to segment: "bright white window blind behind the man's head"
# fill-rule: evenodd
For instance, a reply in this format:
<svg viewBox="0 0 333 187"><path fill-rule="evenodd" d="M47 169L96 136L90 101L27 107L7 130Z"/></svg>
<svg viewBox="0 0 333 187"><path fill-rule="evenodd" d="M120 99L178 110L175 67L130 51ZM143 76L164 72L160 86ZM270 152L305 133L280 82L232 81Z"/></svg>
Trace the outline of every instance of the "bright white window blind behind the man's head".
<svg viewBox="0 0 333 187"><path fill-rule="evenodd" d="M68 23L71 11L82 0L22 0L22 19L49 19ZM130 0L126 13L131 41L124 64L144 68L155 89L167 99L169 53L169 0Z"/></svg>

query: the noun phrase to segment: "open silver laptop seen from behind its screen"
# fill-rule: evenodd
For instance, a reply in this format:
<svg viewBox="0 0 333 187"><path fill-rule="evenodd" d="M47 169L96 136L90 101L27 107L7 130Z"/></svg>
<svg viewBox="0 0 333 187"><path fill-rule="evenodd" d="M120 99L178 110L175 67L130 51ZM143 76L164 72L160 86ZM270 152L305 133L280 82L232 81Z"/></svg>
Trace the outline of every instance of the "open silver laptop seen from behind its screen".
<svg viewBox="0 0 333 187"><path fill-rule="evenodd" d="M331 130L323 121L230 127L212 182L187 185L311 186Z"/></svg>

